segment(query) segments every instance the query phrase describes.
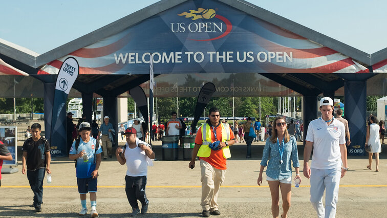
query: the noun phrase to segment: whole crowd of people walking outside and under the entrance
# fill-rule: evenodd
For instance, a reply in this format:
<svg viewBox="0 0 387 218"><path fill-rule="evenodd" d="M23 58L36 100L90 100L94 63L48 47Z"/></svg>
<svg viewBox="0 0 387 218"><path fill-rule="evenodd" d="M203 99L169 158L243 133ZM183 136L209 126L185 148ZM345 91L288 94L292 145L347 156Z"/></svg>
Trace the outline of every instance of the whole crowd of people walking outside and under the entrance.
<svg viewBox="0 0 387 218"><path fill-rule="evenodd" d="M321 117L309 123L305 136L303 174L310 180L310 201L318 217L335 216L340 178L344 177L349 169L346 145L351 142L348 121L341 117L341 110L337 110L337 116L334 117L333 108L331 98L322 98L320 100ZM281 217L287 217L291 205L292 182L294 181L296 187L302 182L299 173L297 140L303 140L303 123L300 124L298 121L294 123L294 120L287 123L285 118L276 117L266 125L263 139L260 137L263 128L261 128L262 124L259 119L253 123L249 117L243 124L235 122L233 126L230 126L226 120L220 120L218 108L212 107L208 113L209 119L197 131L195 147L193 147L191 161L188 164L188 167L193 169L199 157L202 215L208 217L221 214L218 198L220 186L225 181L227 159L231 157L229 146L244 140L247 145L246 158L251 158L251 143L266 140L257 184L262 185L263 172L267 167L266 180L272 198L272 215L273 217L279 216L279 190L281 190L283 200ZM74 127L71 117L72 113L69 113L68 122L71 121L69 124ZM125 137L126 143L124 146L119 146L115 152L112 150L112 134L115 134L115 130L108 116L104 117L104 122L100 126L95 120L90 124L82 118L75 128L77 137L74 141L72 136L74 130L71 129L72 140L68 150L69 158L76 161L76 180L81 204L79 215L88 213L87 193L90 193L90 214L92 217L98 217L96 209L98 169L101 160L111 159L113 154L119 164L127 166L125 192L132 207L131 216L146 213L149 204L145 194L147 167L152 166L155 159L152 146L146 143L148 135L146 125L142 125L138 119L134 120L132 127L125 129L123 125L120 125L118 132L121 133L122 139L123 136ZM153 123L151 129L153 139L160 140L164 133L165 135L181 135L182 131L185 132L186 126L182 120L177 118L176 112L173 112L166 127L162 123L159 125ZM380 139L383 140L384 132L383 121L379 122L375 116L370 115L365 140L365 146L369 146L367 148L369 151L367 168L370 170L372 169L372 158L375 156L375 169L379 171ZM24 142L22 148L22 173L27 175L34 193L32 206L36 212L40 212L43 179L46 173L51 173L50 144L47 139L40 136L40 124L34 123L29 128L29 133L31 137ZM99 139L102 145L99 145ZM312 151L313 165L309 165ZM12 160L12 156L6 146L0 143L0 169L3 160ZM324 192L325 206L322 204ZM141 210L138 202L141 203Z"/></svg>

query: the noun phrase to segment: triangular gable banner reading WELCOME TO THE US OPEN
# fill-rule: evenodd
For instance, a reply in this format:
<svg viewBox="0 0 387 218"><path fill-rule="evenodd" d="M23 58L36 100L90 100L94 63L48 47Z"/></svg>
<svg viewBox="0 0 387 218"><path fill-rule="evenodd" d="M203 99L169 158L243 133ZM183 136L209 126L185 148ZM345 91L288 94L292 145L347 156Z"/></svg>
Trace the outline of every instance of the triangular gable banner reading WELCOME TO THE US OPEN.
<svg viewBox="0 0 387 218"><path fill-rule="evenodd" d="M158 74L369 72L331 48L213 0L187 1L70 55L82 74L148 74L151 56ZM38 74L56 74L68 56Z"/></svg>

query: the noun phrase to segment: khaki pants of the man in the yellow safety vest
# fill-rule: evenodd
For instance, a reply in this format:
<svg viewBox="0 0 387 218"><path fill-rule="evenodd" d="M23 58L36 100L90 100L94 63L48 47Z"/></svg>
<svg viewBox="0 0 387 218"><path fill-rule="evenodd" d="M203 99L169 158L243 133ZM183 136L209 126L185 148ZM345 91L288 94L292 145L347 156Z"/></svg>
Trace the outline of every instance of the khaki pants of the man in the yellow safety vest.
<svg viewBox="0 0 387 218"><path fill-rule="evenodd" d="M202 173L202 203L203 210L210 212L218 210L219 188L226 176L226 170L214 168L211 164L200 160L200 170Z"/></svg>

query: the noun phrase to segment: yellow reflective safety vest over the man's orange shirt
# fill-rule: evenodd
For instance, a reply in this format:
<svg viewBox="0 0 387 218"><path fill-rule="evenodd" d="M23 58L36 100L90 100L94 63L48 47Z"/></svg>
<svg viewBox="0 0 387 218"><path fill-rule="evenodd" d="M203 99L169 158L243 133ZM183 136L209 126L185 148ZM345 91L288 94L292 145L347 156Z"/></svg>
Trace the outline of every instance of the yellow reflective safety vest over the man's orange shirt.
<svg viewBox="0 0 387 218"><path fill-rule="evenodd" d="M222 126L222 142L226 142L230 140L230 127L227 123L221 123L221 126ZM204 123L202 125L202 141L203 143L199 148L198 157L208 158L211 155L211 148L209 148L208 145L212 143L211 127L209 126L208 123ZM231 152L230 152L229 146L222 148L222 150L223 150L224 158L226 159L231 158Z"/></svg>

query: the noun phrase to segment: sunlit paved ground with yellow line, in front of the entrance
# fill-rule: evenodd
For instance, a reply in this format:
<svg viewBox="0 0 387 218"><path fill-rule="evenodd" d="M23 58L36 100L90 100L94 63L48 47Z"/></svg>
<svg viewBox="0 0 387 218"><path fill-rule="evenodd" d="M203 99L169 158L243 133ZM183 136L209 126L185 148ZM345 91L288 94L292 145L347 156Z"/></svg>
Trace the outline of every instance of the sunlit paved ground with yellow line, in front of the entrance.
<svg viewBox="0 0 387 218"><path fill-rule="evenodd" d="M245 146L231 146L226 180L222 185L220 217L271 217L271 197L267 182L257 186L256 179L263 143L253 143L253 159L246 160ZM303 146L298 146L300 160ZM162 159L161 143L154 145L156 158ZM21 153L19 153L21 154ZM380 171L368 170L366 157L350 157L350 171L340 182L337 217L387 217L387 145L382 146ZM149 167L147 214L138 217L198 217L200 206L200 169L188 168L188 161L155 161ZM20 159L19 159L20 160ZM302 163L302 161L301 161ZM197 162L197 166L198 166ZM21 171L21 167L18 167ZM76 188L74 162L58 158L52 162L51 184L44 189L42 212L33 212L33 194L21 172L3 175L0 188L1 217L78 217L80 200ZM115 160L103 161L99 170L97 210L100 217L127 217L131 212L124 190L126 167ZM309 202L309 180L303 177L299 188L292 188L292 205L288 217L315 217ZM280 202L281 204L281 202ZM90 201L88 200L90 207ZM282 209L280 209L282 211ZM88 215L90 216L90 215Z"/></svg>

